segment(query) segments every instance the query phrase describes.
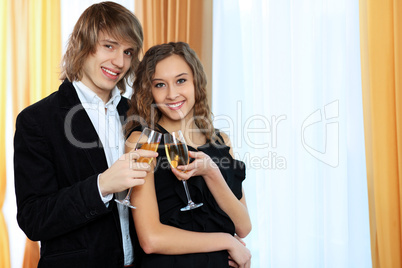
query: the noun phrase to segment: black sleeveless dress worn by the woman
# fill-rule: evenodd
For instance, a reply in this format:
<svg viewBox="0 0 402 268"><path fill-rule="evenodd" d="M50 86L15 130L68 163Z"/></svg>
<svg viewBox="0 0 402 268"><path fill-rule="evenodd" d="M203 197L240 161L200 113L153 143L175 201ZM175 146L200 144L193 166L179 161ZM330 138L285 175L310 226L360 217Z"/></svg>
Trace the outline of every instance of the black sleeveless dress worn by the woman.
<svg viewBox="0 0 402 268"><path fill-rule="evenodd" d="M141 127L137 127L133 131L141 131ZM168 133L161 126L158 126L158 131L162 134ZM197 149L191 146L188 146L188 149L202 151L209 155L218 165L230 189L240 199L242 197L242 182L245 179L245 165L243 162L232 158L229 154L229 147L222 142L221 135L219 133L217 135L221 139L218 141L219 144L206 143ZM201 176L191 177L187 182L192 200L195 203L204 203L204 205L190 211L180 211L180 208L186 206L187 198L183 183L170 170L163 138L158 153L154 177L161 223L184 230L225 232L233 235L235 232L233 222L220 209ZM135 262L141 264L139 267L142 268L229 267L226 250L183 255L145 254L140 249L138 240L135 242L134 248L136 249Z"/></svg>

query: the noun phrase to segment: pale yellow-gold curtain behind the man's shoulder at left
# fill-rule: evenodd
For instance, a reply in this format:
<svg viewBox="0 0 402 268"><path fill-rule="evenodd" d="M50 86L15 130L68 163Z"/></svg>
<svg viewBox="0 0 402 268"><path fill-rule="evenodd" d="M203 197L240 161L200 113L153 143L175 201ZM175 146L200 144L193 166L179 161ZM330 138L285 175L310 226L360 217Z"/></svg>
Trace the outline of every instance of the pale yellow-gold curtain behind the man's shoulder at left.
<svg viewBox="0 0 402 268"><path fill-rule="evenodd" d="M12 18L11 88L15 117L23 108L49 95L60 85L60 0L6 2L10 4L9 16ZM38 243L27 239L23 267L37 267L38 260Z"/></svg>

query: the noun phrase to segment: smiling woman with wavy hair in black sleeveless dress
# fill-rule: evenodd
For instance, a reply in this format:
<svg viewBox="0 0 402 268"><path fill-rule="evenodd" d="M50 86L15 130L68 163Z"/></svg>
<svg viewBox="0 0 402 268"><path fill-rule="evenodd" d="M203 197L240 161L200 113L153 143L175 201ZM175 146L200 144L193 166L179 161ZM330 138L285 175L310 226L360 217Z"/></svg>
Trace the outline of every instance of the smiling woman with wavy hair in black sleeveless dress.
<svg viewBox="0 0 402 268"><path fill-rule="evenodd" d="M133 189L133 217L145 252L136 255L141 267L250 267L249 250L233 236L251 231L241 186L245 167L233 159L228 136L212 125L206 76L195 52L182 42L154 46L135 76L128 117L139 116L162 133L181 130L194 159L171 169L162 141L155 172ZM127 151L140 131L138 121L127 124ZM180 180L188 180L192 199L203 206L180 211L187 203Z"/></svg>

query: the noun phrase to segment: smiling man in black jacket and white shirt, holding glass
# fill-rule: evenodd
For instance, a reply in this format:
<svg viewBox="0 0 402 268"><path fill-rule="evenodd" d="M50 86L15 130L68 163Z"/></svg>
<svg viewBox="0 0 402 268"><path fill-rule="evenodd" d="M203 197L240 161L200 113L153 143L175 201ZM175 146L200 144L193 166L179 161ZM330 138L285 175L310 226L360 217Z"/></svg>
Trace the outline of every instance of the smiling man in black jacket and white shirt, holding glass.
<svg viewBox="0 0 402 268"><path fill-rule="evenodd" d="M132 12L113 2L92 5L69 39L59 90L17 118L17 220L41 242L39 267L133 264L132 217L113 198L144 183L150 166L135 159L157 155L123 155L128 103L120 93L142 40Z"/></svg>

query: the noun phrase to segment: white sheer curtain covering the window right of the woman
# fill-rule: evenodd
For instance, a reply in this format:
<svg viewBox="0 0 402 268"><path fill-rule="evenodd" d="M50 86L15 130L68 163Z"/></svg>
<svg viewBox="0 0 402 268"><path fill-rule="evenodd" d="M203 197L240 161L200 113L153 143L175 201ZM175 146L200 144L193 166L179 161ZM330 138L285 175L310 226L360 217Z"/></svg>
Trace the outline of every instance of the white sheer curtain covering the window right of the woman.
<svg viewBox="0 0 402 268"><path fill-rule="evenodd" d="M213 8L212 106L247 165L252 267L371 267L359 2Z"/></svg>

